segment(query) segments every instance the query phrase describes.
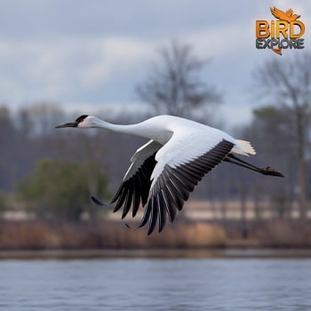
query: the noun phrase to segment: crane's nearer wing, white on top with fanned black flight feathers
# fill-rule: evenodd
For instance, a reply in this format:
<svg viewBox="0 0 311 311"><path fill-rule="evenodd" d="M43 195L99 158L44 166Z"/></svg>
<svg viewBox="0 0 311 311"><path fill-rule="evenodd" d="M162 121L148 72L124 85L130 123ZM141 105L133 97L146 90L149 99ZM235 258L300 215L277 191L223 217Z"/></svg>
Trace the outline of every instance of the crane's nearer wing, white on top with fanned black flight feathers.
<svg viewBox="0 0 311 311"><path fill-rule="evenodd" d="M159 232L163 230L167 215L171 221L175 218L198 181L235 146L219 133L208 138L203 134L188 134L182 139L173 134L171 140L156 153L148 201L139 226L149 222L148 235L154 231L157 222Z"/></svg>

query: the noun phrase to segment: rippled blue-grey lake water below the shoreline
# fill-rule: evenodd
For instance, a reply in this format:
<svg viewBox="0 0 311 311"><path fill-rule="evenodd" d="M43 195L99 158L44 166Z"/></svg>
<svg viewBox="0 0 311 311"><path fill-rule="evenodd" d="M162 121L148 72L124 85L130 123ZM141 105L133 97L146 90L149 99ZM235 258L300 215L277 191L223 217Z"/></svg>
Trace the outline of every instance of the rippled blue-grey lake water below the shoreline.
<svg viewBox="0 0 311 311"><path fill-rule="evenodd" d="M4 259L0 310L311 310L311 259Z"/></svg>

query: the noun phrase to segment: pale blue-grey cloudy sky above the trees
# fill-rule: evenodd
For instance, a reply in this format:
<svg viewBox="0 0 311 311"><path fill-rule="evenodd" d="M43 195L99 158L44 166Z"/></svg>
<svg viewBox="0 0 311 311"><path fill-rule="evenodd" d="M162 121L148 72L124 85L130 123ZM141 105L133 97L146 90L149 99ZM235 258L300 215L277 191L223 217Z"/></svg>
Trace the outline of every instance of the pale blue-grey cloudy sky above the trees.
<svg viewBox="0 0 311 311"><path fill-rule="evenodd" d="M203 79L225 92L223 119L244 123L256 104L251 72L301 52L256 49L255 20L275 20L274 5L301 15L310 51L309 0L0 0L0 103L53 101L86 114L135 108L135 85L156 49L175 39L211 59Z"/></svg>

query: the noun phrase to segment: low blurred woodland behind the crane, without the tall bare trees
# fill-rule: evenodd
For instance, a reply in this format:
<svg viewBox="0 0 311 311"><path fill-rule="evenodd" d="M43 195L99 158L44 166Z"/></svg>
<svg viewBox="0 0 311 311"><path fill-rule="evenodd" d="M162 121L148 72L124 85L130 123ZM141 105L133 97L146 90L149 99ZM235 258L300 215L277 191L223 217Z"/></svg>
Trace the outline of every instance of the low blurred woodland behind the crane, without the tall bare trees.
<svg viewBox="0 0 311 311"><path fill-rule="evenodd" d="M25 131L20 126L20 114L28 116L34 108L37 109L36 106L23 108L16 114L9 108L0 109L0 144L3 150L0 210L1 206L4 210L5 194L15 193L21 195L24 201L36 203L38 215L52 209L57 217L75 219L85 209L89 211L91 195L100 195L103 200L108 200L109 195L116 191L130 163L129 159L144 140L102 130L57 131L53 128L55 124L73 117L58 108L61 120L56 121L53 117L46 119L55 111L55 107L49 105L41 108L52 110L50 113L45 111L44 115L28 118L29 129L33 130ZM258 156L251 157L252 163L259 166L269 164L283 171L285 179L269 178L222 163L199 183L192 198L225 202L246 197L258 204L260 201L280 204L281 209L290 211L292 204L299 200L299 161L295 141L289 140L283 129L281 112L275 107L255 109L251 124L235 130L235 136L253 142ZM122 120L115 122L126 124ZM135 117L132 117L132 122L136 122ZM36 129L38 124L49 124L49 130L40 132ZM307 176L310 176L310 161L306 162L306 170ZM306 185L309 195L309 180ZM71 192L70 202L61 196L64 190ZM42 193L49 195L41 197ZM67 215L64 206L69 206L67 210L79 212Z"/></svg>

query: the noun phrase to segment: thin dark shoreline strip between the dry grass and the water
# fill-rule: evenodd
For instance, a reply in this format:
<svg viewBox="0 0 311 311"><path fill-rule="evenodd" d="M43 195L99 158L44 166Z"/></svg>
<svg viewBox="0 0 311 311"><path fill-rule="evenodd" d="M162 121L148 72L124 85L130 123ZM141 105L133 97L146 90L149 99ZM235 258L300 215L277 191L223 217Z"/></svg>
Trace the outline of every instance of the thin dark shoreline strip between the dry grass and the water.
<svg viewBox="0 0 311 311"><path fill-rule="evenodd" d="M154 250L0 251L0 260L72 259L311 259L310 249L225 248Z"/></svg>

